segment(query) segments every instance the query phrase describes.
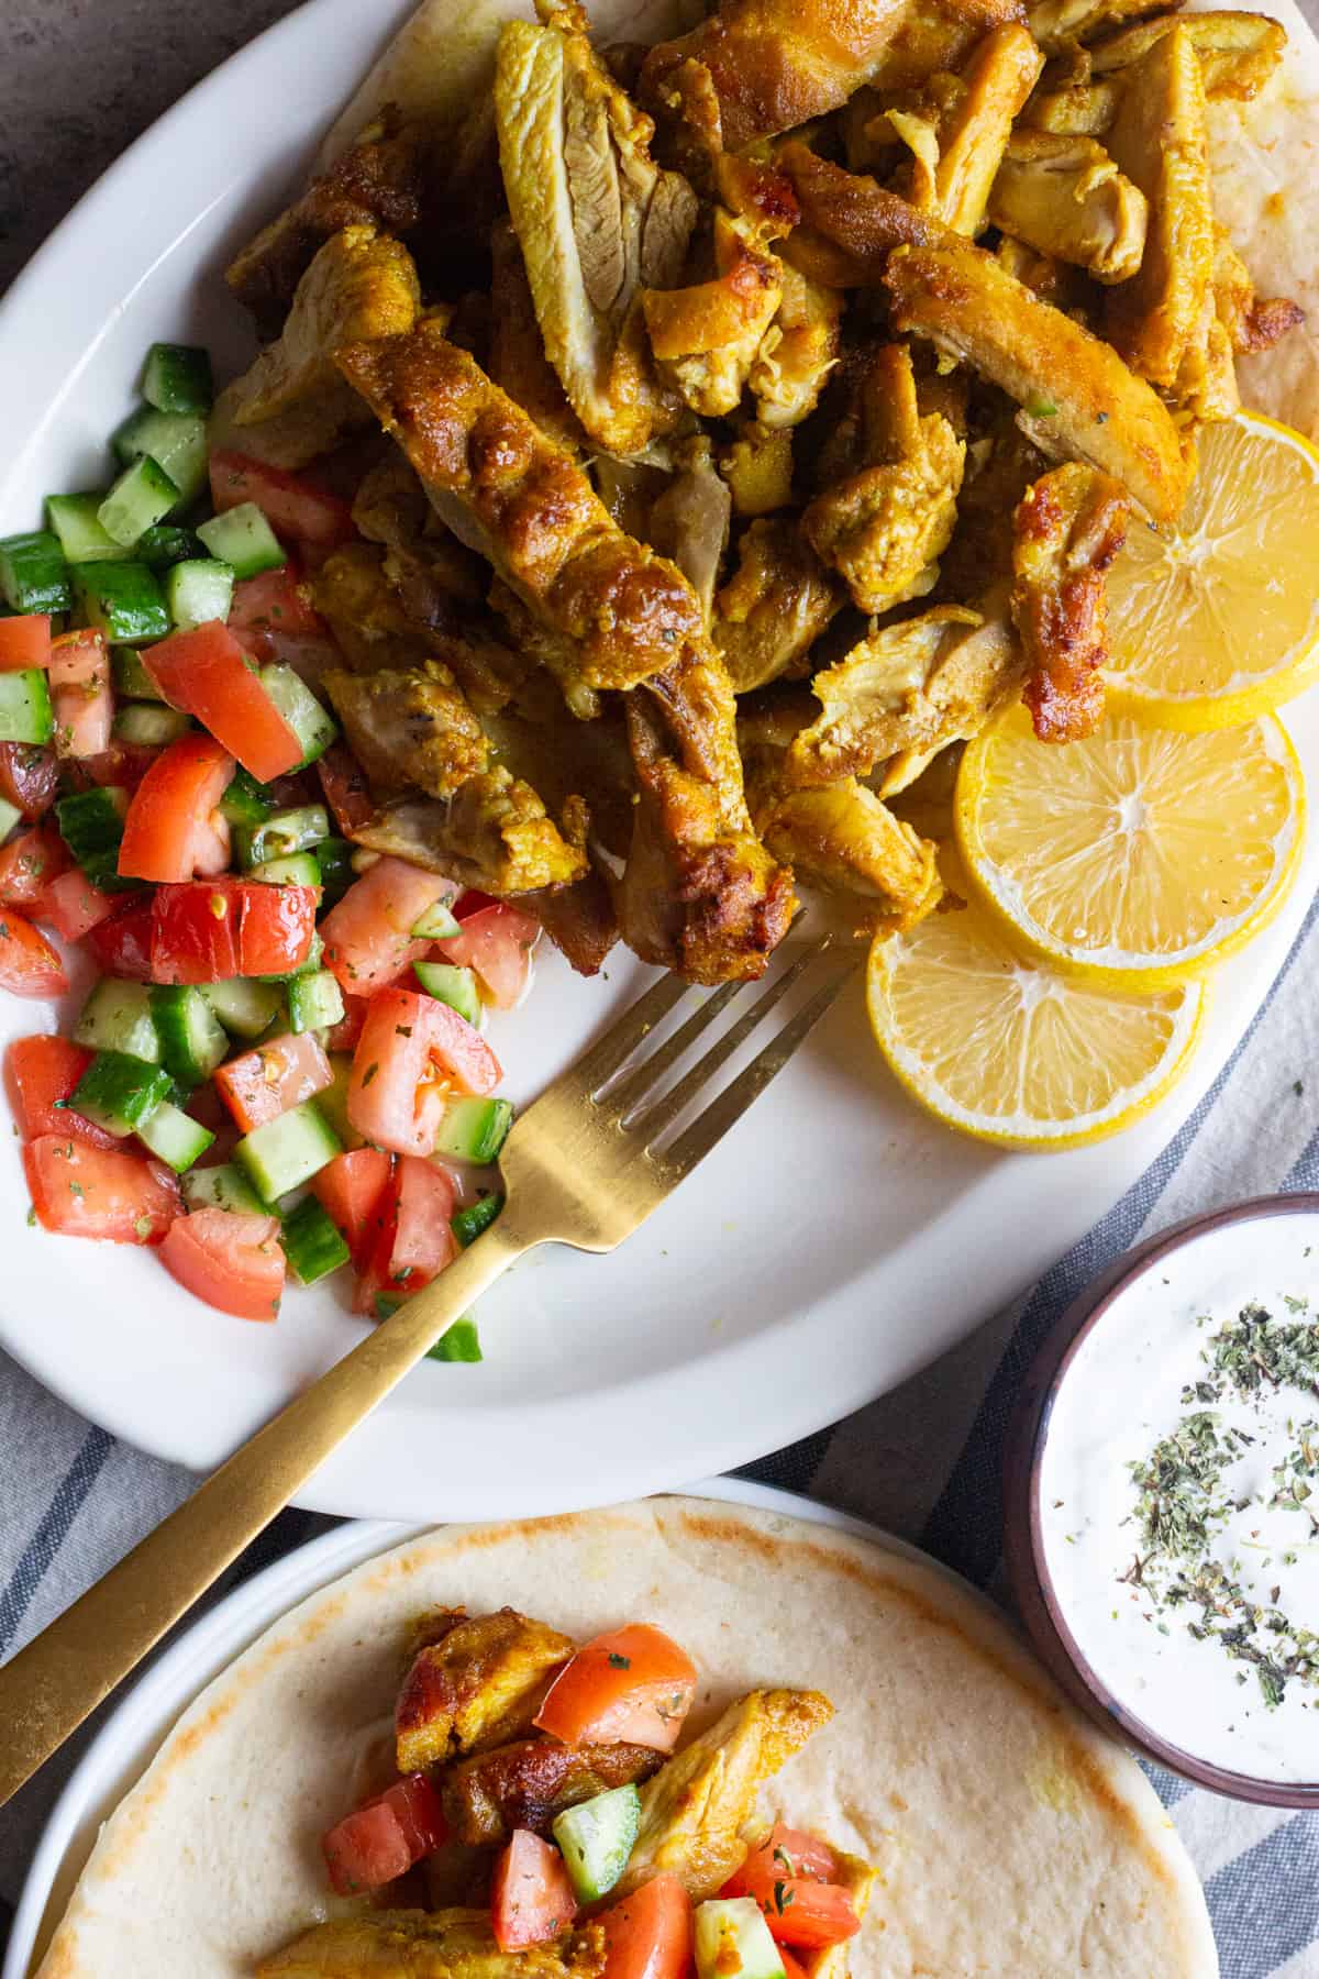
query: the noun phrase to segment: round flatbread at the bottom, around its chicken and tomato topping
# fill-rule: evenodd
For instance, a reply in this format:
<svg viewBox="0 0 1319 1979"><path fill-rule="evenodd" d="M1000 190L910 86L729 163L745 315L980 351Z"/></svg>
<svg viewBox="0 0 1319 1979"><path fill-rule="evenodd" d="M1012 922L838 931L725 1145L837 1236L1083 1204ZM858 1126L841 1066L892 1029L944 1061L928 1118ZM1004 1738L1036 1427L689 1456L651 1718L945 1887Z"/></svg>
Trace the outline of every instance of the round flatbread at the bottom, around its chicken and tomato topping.
<svg viewBox="0 0 1319 1979"><path fill-rule="evenodd" d="M326 1916L318 1837L388 1736L433 1603L575 1637L655 1621L702 1672L692 1728L753 1684L836 1718L765 1815L880 1868L852 1979L1212 1979L1214 1939L1139 1767L987 1603L927 1561L712 1500L449 1528L312 1595L198 1698L107 1823L40 1979L251 1979Z"/></svg>

